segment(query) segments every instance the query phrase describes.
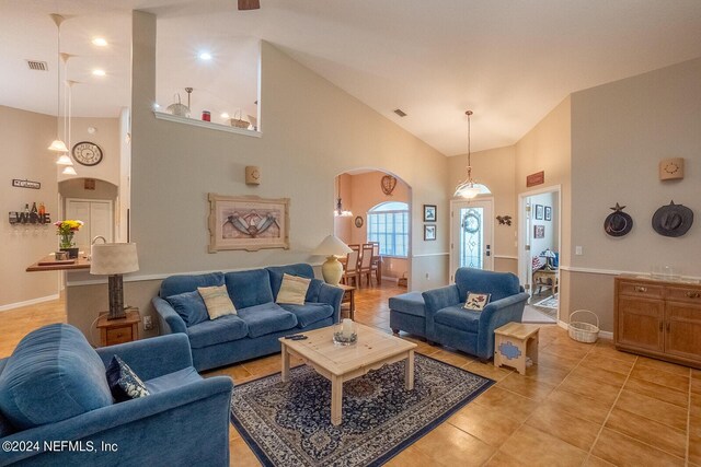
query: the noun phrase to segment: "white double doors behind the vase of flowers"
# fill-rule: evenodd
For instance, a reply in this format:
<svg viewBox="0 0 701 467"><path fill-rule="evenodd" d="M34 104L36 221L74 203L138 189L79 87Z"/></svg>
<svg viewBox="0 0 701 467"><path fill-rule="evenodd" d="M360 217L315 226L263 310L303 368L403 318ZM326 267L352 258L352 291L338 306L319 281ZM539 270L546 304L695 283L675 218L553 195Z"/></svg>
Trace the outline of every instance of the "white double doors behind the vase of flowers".
<svg viewBox="0 0 701 467"><path fill-rule="evenodd" d="M114 218L112 201L102 199L66 199L66 219L83 221L83 227L76 233L73 242L83 252L90 250L92 238L97 235L113 242Z"/></svg>

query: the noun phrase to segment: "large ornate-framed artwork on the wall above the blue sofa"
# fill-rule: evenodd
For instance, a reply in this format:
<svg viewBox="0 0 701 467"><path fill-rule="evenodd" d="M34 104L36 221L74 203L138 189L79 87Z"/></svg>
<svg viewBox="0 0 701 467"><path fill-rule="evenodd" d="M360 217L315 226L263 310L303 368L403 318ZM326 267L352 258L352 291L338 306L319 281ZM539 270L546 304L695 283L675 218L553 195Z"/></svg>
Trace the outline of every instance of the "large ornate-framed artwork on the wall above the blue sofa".
<svg viewBox="0 0 701 467"><path fill-rule="evenodd" d="M209 194L209 253L289 248L289 198Z"/></svg>

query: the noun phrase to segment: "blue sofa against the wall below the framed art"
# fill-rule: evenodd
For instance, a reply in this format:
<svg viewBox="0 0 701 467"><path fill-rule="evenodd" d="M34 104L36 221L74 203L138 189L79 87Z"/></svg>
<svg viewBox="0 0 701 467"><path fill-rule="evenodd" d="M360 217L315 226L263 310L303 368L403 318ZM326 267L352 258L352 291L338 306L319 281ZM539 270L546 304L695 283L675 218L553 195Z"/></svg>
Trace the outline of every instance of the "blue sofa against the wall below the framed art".
<svg viewBox="0 0 701 467"><path fill-rule="evenodd" d="M283 275L312 279L303 305L276 304ZM237 272L171 276L152 303L161 334L187 336L197 371L230 365L280 351L278 339L290 334L338 323L343 290L313 279L310 265L269 267ZM174 295L197 291L198 287L227 285L237 315L205 319L188 325L189 310L177 310Z"/></svg>

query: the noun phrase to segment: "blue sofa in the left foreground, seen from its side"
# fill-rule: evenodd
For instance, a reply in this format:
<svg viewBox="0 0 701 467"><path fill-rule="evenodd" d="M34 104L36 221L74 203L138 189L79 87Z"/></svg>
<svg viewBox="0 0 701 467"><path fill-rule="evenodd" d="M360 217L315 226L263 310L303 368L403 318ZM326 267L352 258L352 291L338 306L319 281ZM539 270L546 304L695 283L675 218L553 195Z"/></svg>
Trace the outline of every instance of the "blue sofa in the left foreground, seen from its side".
<svg viewBox="0 0 701 467"><path fill-rule="evenodd" d="M149 396L113 402L105 371L115 354ZM227 376L197 374L183 335L94 350L70 325L45 326L0 360L0 443L25 446L2 450L0 465L228 466L232 388Z"/></svg>

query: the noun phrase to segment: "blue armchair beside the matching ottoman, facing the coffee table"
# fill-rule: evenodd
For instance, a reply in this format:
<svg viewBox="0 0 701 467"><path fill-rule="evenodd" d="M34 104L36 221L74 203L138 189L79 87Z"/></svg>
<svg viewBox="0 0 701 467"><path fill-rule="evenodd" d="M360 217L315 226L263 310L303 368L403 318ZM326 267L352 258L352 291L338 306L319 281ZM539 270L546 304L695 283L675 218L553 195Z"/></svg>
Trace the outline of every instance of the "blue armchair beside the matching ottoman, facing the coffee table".
<svg viewBox="0 0 701 467"><path fill-rule="evenodd" d="M463 308L468 292L492 294L482 312ZM494 329L520 323L528 294L510 272L460 268L456 283L423 293L426 338L489 360L494 355Z"/></svg>

